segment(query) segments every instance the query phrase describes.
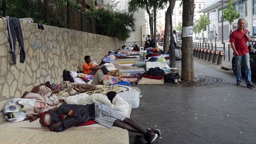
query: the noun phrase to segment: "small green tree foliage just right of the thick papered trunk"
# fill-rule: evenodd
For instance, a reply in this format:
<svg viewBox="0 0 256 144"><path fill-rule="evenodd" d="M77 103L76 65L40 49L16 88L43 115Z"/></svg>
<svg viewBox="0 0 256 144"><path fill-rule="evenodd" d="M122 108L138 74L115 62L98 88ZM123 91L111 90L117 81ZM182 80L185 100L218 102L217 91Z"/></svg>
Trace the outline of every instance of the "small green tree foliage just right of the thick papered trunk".
<svg viewBox="0 0 256 144"><path fill-rule="evenodd" d="M197 20L196 24L194 24L194 32L201 33L201 31L206 31L207 25L209 24L210 24L210 20L208 15L206 14L200 15L199 20Z"/></svg>

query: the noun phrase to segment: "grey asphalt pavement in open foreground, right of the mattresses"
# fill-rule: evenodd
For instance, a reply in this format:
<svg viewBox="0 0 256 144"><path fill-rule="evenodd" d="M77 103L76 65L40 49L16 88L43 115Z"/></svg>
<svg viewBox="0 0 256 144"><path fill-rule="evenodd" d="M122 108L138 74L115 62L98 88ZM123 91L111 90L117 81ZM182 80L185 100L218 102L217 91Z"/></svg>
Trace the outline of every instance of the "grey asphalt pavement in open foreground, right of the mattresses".
<svg viewBox="0 0 256 144"><path fill-rule="evenodd" d="M181 68L181 60L176 61ZM135 85L142 92L131 118L145 128L161 130L158 143L255 143L255 88L235 86L232 72L194 60L195 75L222 84L206 87ZM133 143L136 133L129 133Z"/></svg>

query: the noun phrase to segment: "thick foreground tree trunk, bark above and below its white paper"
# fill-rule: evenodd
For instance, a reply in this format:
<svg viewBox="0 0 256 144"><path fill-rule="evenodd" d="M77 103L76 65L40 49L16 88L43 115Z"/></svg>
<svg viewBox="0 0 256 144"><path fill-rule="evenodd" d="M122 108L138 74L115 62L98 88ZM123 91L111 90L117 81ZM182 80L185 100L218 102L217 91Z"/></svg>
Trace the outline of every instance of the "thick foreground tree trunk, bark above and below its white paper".
<svg viewBox="0 0 256 144"><path fill-rule="evenodd" d="M191 7L192 6L192 7ZM194 20L194 0L183 1L183 28L193 26ZM184 32L184 31L183 31ZM183 81L194 79L194 60L193 60L193 38L182 38L182 61L181 61L181 78Z"/></svg>

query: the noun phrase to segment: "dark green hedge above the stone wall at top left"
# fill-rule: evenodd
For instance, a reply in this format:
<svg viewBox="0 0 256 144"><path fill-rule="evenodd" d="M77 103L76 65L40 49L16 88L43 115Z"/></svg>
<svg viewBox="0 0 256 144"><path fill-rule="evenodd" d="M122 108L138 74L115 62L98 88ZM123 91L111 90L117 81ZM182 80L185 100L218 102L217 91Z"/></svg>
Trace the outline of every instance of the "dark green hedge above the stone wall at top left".
<svg viewBox="0 0 256 144"><path fill-rule="evenodd" d="M15 18L29 17L36 23L63 27L63 8L67 2L73 8L82 9L79 0L8 0L7 15Z"/></svg>

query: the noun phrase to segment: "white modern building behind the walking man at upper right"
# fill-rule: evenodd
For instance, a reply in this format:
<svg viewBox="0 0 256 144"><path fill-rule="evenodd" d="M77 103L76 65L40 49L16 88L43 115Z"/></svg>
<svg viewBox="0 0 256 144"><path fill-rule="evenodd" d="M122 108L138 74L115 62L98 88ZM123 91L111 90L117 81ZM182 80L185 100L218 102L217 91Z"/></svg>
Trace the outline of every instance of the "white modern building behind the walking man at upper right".
<svg viewBox="0 0 256 144"><path fill-rule="evenodd" d="M222 8L223 2L223 8ZM210 24L207 27L209 39L213 39L214 34L217 34L217 40L222 40L222 9L226 9L228 0L207 0L206 7L198 12L207 12L210 19ZM245 18L246 25L251 34L256 34L256 0L233 0L233 6L240 14L239 18ZM234 20L230 26L228 21L223 20L223 40L229 40L230 30L237 28L238 20Z"/></svg>

